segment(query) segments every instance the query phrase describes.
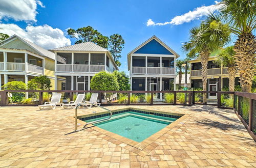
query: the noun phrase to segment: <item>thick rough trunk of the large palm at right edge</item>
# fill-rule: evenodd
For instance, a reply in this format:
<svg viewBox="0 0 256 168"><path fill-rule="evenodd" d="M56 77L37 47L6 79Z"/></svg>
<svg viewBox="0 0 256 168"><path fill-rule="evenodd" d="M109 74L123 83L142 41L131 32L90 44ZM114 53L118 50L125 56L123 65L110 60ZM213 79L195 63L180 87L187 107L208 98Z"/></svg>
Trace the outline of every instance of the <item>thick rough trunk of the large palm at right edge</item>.
<svg viewBox="0 0 256 168"><path fill-rule="evenodd" d="M242 92L250 93L256 63L255 36L252 33L240 35L236 44L234 44L234 51L236 51L234 58L236 58L235 62L238 65Z"/></svg>

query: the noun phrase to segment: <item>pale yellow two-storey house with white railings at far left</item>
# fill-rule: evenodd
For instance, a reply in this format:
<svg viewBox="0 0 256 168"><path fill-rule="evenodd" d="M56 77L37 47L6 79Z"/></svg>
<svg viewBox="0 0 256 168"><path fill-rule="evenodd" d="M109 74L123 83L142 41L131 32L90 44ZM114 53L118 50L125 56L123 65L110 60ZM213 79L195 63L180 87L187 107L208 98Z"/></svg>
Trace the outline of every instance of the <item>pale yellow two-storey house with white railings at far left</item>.
<svg viewBox="0 0 256 168"><path fill-rule="evenodd" d="M54 89L54 53L17 35L0 42L0 83L46 75ZM0 87L1 90L2 87Z"/></svg>

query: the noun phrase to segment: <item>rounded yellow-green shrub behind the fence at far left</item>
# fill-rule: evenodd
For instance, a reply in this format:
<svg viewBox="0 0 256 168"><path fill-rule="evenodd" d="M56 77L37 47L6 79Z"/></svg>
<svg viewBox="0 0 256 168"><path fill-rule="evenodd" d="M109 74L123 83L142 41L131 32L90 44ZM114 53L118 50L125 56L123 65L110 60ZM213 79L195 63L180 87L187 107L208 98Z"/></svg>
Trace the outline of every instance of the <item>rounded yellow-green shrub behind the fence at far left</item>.
<svg viewBox="0 0 256 168"><path fill-rule="evenodd" d="M6 90L26 90L27 86L23 81L10 81L6 83L4 86ZM25 97L24 92L13 92L12 93L12 101L15 102L22 102Z"/></svg>

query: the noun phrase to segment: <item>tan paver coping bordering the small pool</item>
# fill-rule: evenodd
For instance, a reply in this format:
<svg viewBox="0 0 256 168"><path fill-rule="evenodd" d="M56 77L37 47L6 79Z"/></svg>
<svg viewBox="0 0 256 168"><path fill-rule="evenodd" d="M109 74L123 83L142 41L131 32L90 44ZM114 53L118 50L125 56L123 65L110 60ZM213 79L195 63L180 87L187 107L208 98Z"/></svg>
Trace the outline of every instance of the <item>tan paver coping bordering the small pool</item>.
<svg viewBox="0 0 256 168"><path fill-rule="evenodd" d="M170 112L166 112L166 111L156 111L156 110L148 110L148 109L141 109L141 108L134 108L134 107L120 108L120 109L113 110L113 112L120 111L120 110L130 110L130 109L143 110L143 111L153 112L153 113L155 112L155 113L159 113L159 114L168 114L168 115L176 115L176 116L180 115L181 117L179 119L177 119L176 121L172 122L171 124L167 125L163 129L159 130L158 132L154 133L150 137L147 137L140 143L133 141L132 139L123 137L121 135L115 134L113 132L104 130L97 126L91 126L91 127L87 128L86 130L109 141L109 142L119 145L119 146L123 147L124 149L127 149L131 152L134 152L134 153L144 157L159 145L159 143L157 141L158 139L166 139L168 137L168 135L171 135L175 130L179 129L179 127L185 123L184 120L190 116L188 114L170 113ZM105 113L109 113L109 112L102 111L99 113L80 115L80 116L78 116L78 118L83 118L84 116L87 116L87 117L94 116L94 115L96 116L96 115L105 114ZM74 116L69 116L67 118L75 121ZM86 124L86 122L84 122L82 120L77 120L77 123L78 123L79 128L82 128L83 125ZM174 128L175 128L175 130L171 131Z"/></svg>

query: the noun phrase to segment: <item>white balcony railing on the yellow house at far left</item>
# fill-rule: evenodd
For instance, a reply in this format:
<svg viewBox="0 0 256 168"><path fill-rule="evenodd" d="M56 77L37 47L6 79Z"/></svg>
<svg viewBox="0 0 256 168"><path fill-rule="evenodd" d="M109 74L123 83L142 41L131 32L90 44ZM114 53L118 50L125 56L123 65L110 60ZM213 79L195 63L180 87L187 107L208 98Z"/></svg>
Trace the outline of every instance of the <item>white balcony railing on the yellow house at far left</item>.
<svg viewBox="0 0 256 168"><path fill-rule="evenodd" d="M26 64L27 64L27 70L26 70ZM5 69L6 67L6 69ZM33 64L28 63L4 63L0 62L0 70L1 71L16 71L16 72L32 72L32 73L38 73L43 74L44 68L40 66L36 66Z"/></svg>

